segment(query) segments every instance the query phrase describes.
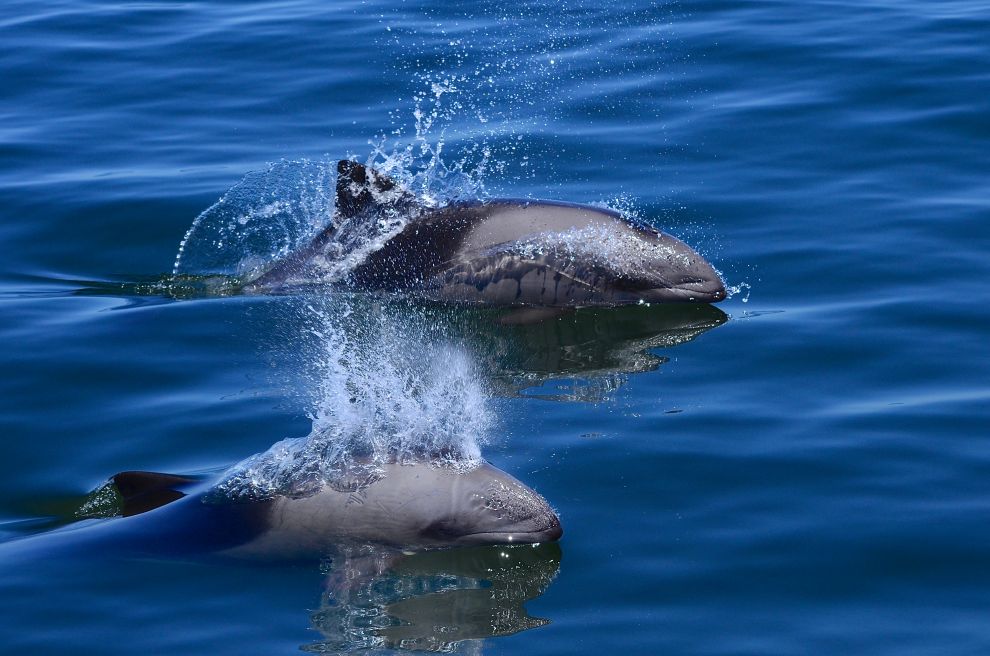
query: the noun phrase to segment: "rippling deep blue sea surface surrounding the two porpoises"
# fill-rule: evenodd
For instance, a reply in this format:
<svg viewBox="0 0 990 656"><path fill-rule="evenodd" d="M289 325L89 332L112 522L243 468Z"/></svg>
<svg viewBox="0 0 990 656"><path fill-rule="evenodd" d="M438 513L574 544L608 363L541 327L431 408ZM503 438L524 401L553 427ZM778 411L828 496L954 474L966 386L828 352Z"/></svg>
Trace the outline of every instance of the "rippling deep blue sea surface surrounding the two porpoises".
<svg viewBox="0 0 990 656"><path fill-rule="evenodd" d="M156 287L271 163L618 205L735 288L699 329L438 320L477 362L482 453L558 509L559 550L412 559L350 598L332 564L40 554L0 562L5 653L990 647L986 3L2 7L4 540L114 472L217 473L326 419L305 299ZM376 643L359 611L397 581L436 594Z"/></svg>

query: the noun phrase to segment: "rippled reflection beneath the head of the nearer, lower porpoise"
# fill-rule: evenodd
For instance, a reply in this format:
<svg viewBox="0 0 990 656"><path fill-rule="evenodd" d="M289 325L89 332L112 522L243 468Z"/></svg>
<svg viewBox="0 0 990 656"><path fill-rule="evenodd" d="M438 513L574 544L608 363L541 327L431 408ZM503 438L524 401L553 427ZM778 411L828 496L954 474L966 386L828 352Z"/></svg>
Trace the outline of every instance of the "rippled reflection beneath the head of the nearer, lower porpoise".
<svg viewBox="0 0 990 656"><path fill-rule="evenodd" d="M307 651L388 647L461 653L457 645L464 641L549 623L530 616L523 604L540 596L557 575L560 547L372 552L340 567L311 617L322 639Z"/></svg>

